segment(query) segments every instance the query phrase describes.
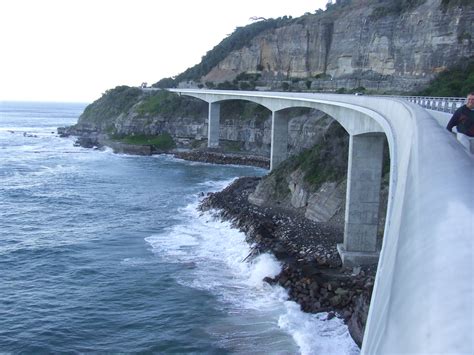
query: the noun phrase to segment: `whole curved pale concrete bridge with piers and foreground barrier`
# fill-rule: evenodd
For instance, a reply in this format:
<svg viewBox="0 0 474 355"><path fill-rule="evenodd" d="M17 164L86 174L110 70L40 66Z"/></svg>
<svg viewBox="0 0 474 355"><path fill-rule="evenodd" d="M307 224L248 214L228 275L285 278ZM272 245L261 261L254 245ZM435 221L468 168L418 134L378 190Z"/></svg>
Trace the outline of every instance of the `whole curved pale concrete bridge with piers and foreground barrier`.
<svg viewBox="0 0 474 355"><path fill-rule="evenodd" d="M336 119L350 136L338 250L346 266L378 260L362 353L474 353L474 157L443 127L462 100L170 91L209 103L209 147L219 144L221 102L247 100L271 110L271 169L287 158L284 110L309 107ZM384 139L390 187L379 251Z"/></svg>

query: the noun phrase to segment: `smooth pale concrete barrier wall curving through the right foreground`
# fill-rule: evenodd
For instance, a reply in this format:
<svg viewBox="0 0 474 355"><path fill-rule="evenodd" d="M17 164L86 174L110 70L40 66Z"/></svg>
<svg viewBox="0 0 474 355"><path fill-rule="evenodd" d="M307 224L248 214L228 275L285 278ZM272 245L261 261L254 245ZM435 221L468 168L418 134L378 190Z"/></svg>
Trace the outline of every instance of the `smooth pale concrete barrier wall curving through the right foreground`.
<svg viewBox="0 0 474 355"><path fill-rule="evenodd" d="M362 353L473 354L473 160L426 110L403 105L380 108L397 171Z"/></svg>

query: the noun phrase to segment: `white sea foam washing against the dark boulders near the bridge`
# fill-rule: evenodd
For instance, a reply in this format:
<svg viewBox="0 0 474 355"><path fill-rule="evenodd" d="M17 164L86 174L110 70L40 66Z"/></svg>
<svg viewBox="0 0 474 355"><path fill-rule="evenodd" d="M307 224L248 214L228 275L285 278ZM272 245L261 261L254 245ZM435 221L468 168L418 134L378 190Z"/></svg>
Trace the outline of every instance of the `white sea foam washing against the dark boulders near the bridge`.
<svg viewBox="0 0 474 355"><path fill-rule="evenodd" d="M266 334L262 336L273 344L274 348L269 350L272 353L288 353L288 349L279 350L287 344L274 341L278 329L291 335L301 354L359 353L340 319L326 320L327 314L304 313L298 304L288 301L282 287L263 282L264 277L280 272L281 265L273 255L262 254L251 262L243 262L251 251L244 234L211 213L199 213L196 207L197 203L193 203L180 211L181 224L146 238L156 255L165 261L193 264L191 270L178 275L180 283L213 293L222 310L232 315L233 326L245 329L242 332L247 336L249 332ZM214 331L224 332L223 329L225 326L220 325ZM225 338L245 351L246 345L236 339L238 335Z"/></svg>

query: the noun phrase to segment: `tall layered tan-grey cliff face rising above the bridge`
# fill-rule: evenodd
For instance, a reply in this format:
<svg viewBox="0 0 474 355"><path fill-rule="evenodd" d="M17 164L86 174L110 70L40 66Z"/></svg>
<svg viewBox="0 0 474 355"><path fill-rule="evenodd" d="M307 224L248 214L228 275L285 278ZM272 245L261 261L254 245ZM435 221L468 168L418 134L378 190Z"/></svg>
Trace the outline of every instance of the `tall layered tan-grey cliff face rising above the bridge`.
<svg viewBox="0 0 474 355"><path fill-rule="evenodd" d="M474 56L474 3L464 3L443 6L442 0L426 0L397 12L378 2L353 0L261 33L201 81L232 81L245 72L260 73L269 86L274 80L309 78L313 89L421 88Z"/></svg>

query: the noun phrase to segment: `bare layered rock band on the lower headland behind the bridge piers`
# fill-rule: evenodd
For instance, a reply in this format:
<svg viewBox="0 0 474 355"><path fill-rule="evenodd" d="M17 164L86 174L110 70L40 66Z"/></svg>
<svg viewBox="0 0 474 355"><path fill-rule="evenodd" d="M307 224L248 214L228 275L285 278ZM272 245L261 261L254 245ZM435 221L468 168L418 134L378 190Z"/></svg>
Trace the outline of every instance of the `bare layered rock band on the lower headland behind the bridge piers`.
<svg viewBox="0 0 474 355"><path fill-rule="evenodd" d="M312 147L324 136L333 119L321 111L310 110L289 120L288 152L296 154ZM111 127L107 125L112 125ZM205 116L198 118L160 116L140 116L136 111L122 113L110 122L80 121L77 125L62 128L62 135L104 136L113 131L117 136L170 134L182 145L192 140L207 139L208 123ZM236 119L221 117L219 127L221 141L238 143L239 147L250 154L269 156L271 145L271 117L265 120ZM186 144L185 144L186 143Z"/></svg>

